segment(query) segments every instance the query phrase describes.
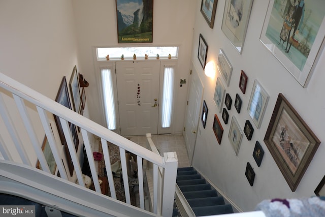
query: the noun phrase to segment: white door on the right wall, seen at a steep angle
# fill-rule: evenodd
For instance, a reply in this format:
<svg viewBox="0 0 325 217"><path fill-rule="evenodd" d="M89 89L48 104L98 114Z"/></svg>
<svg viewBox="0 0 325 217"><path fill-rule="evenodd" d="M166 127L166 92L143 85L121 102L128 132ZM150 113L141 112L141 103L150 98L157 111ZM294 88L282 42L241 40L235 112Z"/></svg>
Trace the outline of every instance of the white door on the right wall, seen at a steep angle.
<svg viewBox="0 0 325 217"><path fill-rule="evenodd" d="M190 163L193 159L193 153L197 139L202 99L203 84L198 76L198 73L196 70L194 70L194 67L192 67L184 132L184 140L187 147L188 159Z"/></svg>

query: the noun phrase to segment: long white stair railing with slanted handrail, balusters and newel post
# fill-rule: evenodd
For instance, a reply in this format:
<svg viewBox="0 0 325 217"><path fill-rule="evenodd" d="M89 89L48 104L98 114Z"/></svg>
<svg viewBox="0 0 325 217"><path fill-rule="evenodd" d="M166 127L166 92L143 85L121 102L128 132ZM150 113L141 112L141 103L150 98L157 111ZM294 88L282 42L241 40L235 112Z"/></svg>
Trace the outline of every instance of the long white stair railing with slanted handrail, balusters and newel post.
<svg viewBox="0 0 325 217"><path fill-rule="evenodd" d="M69 179L71 179L70 173L67 172L66 168L64 167L62 162L63 156L58 148L60 144L57 144L52 131L53 126L50 125L50 121L53 120L53 115L59 117L59 122L63 129L77 180L81 187L84 187L85 183L82 176L81 165L78 160L78 153L74 146L73 136L70 131L70 124L80 127L81 129L81 135L93 178L94 188L97 194L101 194L101 187L92 154L93 150L90 145L91 137L98 137L101 139L104 160L107 168L109 189L113 199L116 199L116 193L112 171L110 170L111 163L107 148L108 142L119 146L126 203L128 205L131 204L126 167L128 162L126 162L125 159L125 151L128 151L137 156L141 209L144 210L142 161L146 160L147 162L151 162L153 167L156 168L153 176L156 177L156 179L157 177L161 179L161 185L155 185L154 187L155 191L160 192L160 194L155 194L155 201L157 204L154 204L155 209L154 213L152 214L154 216L172 216L175 189L170 188L170 186L175 185L177 173L177 158L174 152L165 153L165 156L161 157L159 154L148 150L147 148L144 148L108 130L107 128L104 128L103 126L100 126L98 123L95 123L94 121L91 121L90 119L72 111L71 109L60 105L59 103L45 97L39 92L32 90L31 88L2 73L0 73L0 117L3 120L3 123L0 122L0 127L2 128L0 131L0 151L2 154L2 159L5 159L5 161L0 162L0 164L5 164L4 162L7 161L14 161L34 169L35 164L33 162L38 160L42 170L46 173L50 173L49 166L47 165L44 153L41 149L41 144L38 140L38 136L40 135L39 132L43 131L45 132L49 146L53 153L60 177L69 181ZM18 117L20 117L20 119ZM22 129L25 129L25 133L22 133ZM28 146L28 144L30 145ZM158 167L163 169L163 172L160 170L158 171ZM38 171L37 169L35 170ZM14 175L24 177L26 174L22 173ZM53 175L49 174L49 176ZM32 179L33 177L30 178ZM55 191L55 193L64 194L65 192ZM96 203L95 201L89 202ZM158 205L159 203L161 203L161 205ZM135 209L136 208L137 207L135 207Z"/></svg>

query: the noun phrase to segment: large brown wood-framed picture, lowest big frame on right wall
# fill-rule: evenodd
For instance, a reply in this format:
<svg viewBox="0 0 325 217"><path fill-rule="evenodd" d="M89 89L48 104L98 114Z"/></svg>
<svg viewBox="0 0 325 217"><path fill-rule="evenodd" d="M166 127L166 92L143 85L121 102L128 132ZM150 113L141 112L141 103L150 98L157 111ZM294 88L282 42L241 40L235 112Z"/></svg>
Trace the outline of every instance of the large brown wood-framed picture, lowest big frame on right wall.
<svg viewBox="0 0 325 217"><path fill-rule="evenodd" d="M278 95L264 142L294 192L320 141L282 94Z"/></svg>

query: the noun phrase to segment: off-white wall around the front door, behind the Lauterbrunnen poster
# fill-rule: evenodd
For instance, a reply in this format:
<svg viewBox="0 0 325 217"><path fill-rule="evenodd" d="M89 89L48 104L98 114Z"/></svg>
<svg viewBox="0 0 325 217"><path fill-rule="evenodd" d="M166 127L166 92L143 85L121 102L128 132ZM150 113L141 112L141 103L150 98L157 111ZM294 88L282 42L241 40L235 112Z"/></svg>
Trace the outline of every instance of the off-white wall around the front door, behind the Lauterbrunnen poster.
<svg viewBox="0 0 325 217"><path fill-rule="evenodd" d="M79 71L89 82L87 92L90 119L105 126L98 89L98 71L94 67L93 47L95 46L179 46L178 69L175 82L188 80L190 70L191 44L196 2L188 0L154 1L153 4L153 43L118 44L115 1L73 0L75 22L78 35ZM97 77L96 77L97 76ZM176 90L174 113L175 134L183 132L184 110L186 105L187 84Z"/></svg>

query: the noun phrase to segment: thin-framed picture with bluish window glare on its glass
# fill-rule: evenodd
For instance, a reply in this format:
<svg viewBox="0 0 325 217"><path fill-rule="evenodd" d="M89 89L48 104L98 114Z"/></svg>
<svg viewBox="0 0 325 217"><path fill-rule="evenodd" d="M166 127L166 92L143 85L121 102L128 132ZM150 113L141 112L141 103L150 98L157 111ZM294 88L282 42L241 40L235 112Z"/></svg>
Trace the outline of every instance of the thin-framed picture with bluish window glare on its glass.
<svg viewBox="0 0 325 217"><path fill-rule="evenodd" d="M269 95L262 85L255 80L248 103L248 114L252 118L257 129L261 127L265 108L269 101Z"/></svg>

